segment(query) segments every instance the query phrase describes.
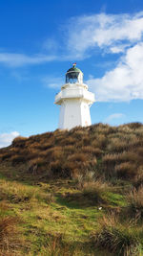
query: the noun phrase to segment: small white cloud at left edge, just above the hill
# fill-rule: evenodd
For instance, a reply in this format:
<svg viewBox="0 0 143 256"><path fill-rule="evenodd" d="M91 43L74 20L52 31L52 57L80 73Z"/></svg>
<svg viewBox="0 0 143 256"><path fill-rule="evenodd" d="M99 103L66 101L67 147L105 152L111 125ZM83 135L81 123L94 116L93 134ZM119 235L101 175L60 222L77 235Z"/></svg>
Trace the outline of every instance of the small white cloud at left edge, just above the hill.
<svg viewBox="0 0 143 256"><path fill-rule="evenodd" d="M9 146L12 140L17 136L19 136L19 132L17 131L11 131L10 133L0 134L0 148Z"/></svg>

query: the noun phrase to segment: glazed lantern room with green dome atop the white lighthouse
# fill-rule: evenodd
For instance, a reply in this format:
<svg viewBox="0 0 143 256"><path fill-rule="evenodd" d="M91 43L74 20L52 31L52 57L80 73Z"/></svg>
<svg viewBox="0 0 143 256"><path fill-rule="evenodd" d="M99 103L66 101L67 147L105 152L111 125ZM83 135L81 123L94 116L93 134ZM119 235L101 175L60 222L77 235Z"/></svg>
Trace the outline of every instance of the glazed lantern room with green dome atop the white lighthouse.
<svg viewBox="0 0 143 256"><path fill-rule="evenodd" d="M73 63L72 68L70 68L66 73L66 83L83 83L83 73L76 67L76 63Z"/></svg>

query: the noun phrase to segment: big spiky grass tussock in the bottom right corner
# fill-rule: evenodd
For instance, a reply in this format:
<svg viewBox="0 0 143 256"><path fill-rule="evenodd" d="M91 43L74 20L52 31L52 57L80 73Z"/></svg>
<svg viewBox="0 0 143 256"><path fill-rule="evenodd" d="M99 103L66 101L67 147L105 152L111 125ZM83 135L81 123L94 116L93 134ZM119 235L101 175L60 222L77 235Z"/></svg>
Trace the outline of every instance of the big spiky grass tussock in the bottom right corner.
<svg viewBox="0 0 143 256"><path fill-rule="evenodd" d="M99 230L92 233L92 243L107 248L116 255L140 255L141 243L136 227L131 222L123 223L117 216L104 216Z"/></svg>

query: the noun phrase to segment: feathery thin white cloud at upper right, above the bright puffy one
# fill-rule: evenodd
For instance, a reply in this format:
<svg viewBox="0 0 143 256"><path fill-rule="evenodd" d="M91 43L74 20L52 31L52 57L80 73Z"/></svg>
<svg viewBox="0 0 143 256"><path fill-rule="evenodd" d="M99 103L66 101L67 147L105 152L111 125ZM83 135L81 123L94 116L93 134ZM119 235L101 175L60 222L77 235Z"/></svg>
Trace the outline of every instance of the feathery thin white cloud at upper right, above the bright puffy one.
<svg viewBox="0 0 143 256"><path fill-rule="evenodd" d="M118 53L120 48L120 52L123 52L129 43L131 45L141 40L143 12L136 14L100 13L74 17L68 24L67 30L69 50L72 52L84 55L87 50L94 47L102 49L108 47L112 53L116 51Z"/></svg>

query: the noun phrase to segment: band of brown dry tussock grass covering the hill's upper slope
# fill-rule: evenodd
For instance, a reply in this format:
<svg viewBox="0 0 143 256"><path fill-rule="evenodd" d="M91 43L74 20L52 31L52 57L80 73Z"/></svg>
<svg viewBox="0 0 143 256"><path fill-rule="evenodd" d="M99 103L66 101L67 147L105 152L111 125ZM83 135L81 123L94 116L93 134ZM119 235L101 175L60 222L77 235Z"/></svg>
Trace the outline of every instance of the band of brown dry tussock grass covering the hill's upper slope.
<svg viewBox="0 0 143 256"><path fill-rule="evenodd" d="M0 150L0 161L10 161L15 166L26 163L34 175L45 172L53 176L52 172L61 172L63 176L77 176L91 169L106 178L128 178L137 186L141 182L138 170L143 166L142 153L140 123L117 128L97 124L70 131L56 129L30 138L17 137L8 149Z"/></svg>

